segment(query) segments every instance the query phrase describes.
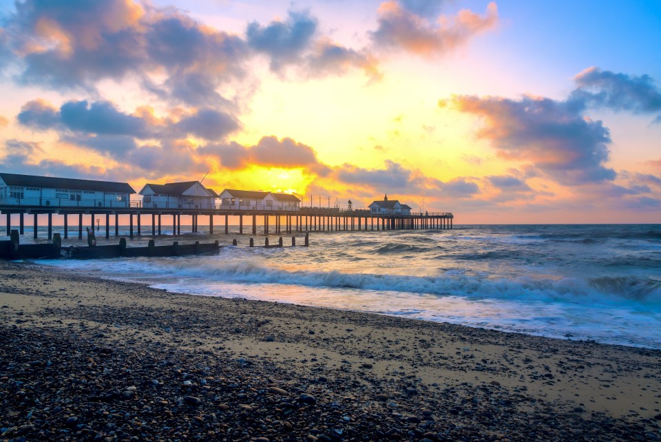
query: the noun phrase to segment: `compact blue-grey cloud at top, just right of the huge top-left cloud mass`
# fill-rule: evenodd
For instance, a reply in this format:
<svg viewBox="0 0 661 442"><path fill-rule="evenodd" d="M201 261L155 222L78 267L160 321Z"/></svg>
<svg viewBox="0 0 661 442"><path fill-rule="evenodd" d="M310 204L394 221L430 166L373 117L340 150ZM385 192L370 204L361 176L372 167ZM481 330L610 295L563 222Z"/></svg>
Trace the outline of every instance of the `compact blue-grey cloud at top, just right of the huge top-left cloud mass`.
<svg viewBox="0 0 661 442"><path fill-rule="evenodd" d="M271 21L262 26L253 21L246 29L246 39L253 50L271 57L271 70L295 63L313 41L317 20L307 12L289 11L285 22Z"/></svg>

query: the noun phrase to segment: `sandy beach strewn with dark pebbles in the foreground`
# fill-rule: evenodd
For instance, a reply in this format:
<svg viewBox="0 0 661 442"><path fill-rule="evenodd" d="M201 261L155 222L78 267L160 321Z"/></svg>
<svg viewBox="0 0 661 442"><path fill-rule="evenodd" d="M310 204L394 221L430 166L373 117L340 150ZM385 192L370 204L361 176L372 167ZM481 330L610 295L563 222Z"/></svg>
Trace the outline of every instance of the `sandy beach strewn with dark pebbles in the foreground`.
<svg viewBox="0 0 661 442"><path fill-rule="evenodd" d="M661 439L659 350L12 262L0 306L3 441Z"/></svg>

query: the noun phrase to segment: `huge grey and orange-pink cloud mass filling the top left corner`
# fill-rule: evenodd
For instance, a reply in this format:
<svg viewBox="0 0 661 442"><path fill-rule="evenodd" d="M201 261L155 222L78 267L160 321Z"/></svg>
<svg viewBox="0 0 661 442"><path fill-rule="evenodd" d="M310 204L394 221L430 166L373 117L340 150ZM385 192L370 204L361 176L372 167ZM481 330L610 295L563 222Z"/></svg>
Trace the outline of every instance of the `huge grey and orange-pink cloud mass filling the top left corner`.
<svg viewBox="0 0 661 442"><path fill-rule="evenodd" d="M207 98L222 98L218 87L242 78L249 57L240 36L174 8L132 0L26 0L16 10L0 38L24 84L94 91L98 81L132 76L173 100L209 105ZM151 79L156 74L162 82Z"/></svg>

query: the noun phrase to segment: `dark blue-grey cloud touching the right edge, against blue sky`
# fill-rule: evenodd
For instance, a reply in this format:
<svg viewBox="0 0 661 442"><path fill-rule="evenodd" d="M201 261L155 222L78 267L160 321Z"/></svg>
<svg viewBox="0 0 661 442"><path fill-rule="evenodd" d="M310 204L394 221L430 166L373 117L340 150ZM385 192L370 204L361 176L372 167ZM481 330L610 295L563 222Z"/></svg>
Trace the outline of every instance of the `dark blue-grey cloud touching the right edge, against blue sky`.
<svg viewBox="0 0 661 442"><path fill-rule="evenodd" d="M616 74L589 67L574 77L577 88L570 100L634 114L661 112L661 90L649 75ZM656 117L659 120L660 116Z"/></svg>

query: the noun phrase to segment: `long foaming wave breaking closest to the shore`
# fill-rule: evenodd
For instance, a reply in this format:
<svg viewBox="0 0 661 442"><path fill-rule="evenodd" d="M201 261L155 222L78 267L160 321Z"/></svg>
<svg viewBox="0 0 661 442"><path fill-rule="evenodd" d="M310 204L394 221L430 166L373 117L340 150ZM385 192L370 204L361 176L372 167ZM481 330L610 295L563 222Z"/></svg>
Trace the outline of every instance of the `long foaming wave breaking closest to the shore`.
<svg viewBox="0 0 661 442"><path fill-rule="evenodd" d="M302 271L264 266L257 260L153 268L173 277L195 277L216 282L244 284L292 284L308 287L349 288L368 291L395 291L438 296L481 299L534 300L572 304L636 304L661 306L661 282L646 277L565 277L534 279L493 279L479 275L408 276L339 271Z"/></svg>

